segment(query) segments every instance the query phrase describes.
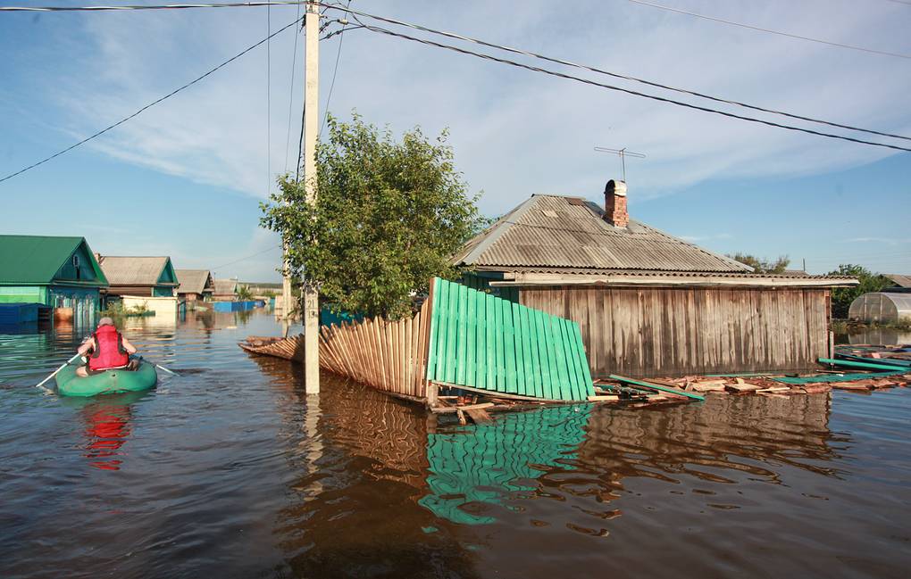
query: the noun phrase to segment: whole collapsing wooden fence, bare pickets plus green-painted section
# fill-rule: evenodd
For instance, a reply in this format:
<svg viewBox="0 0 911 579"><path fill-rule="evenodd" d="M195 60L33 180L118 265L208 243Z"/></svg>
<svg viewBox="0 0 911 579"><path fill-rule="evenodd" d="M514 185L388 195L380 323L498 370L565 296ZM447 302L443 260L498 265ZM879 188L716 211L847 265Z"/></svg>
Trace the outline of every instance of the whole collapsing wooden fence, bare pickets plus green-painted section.
<svg viewBox="0 0 911 579"><path fill-rule="evenodd" d="M302 336L241 343L296 361L303 360L302 346ZM413 318L322 327L320 366L432 404L436 385L540 401L595 394L576 322L439 278Z"/></svg>

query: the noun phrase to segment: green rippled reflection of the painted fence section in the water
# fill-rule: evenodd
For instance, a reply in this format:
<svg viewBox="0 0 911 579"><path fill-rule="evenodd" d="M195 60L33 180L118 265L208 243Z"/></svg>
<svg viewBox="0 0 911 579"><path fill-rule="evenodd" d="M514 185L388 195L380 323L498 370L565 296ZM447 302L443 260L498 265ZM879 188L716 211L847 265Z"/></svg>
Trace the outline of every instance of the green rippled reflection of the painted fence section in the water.
<svg viewBox="0 0 911 579"><path fill-rule="evenodd" d="M453 523L493 523L469 509L533 491L526 481L574 468L568 461L576 457L590 411L589 405L570 405L510 412L466 432L428 434L429 494L419 503Z"/></svg>

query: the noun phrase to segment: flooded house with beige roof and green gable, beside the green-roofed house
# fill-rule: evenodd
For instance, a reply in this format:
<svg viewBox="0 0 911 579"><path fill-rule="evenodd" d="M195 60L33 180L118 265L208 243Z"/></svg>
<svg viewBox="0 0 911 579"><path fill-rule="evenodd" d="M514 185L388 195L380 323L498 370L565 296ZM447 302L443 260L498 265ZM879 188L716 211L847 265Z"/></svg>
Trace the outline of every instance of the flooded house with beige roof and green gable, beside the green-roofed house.
<svg viewBox="0 0 911 579"><path fill-rule="evenodd" d="M100 256L110 287L107 299L124 307L145 307L156 315L177 312L179 281L169 257Z"/></svg>

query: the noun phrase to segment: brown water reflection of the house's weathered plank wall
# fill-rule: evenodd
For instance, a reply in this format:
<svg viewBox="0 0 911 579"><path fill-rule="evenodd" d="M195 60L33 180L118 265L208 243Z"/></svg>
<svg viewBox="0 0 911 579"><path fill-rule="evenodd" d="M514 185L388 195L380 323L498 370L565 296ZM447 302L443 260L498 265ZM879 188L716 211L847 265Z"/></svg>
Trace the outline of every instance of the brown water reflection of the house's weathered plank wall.
<svg viewBox="0 0 911 579"><path fill-rule="evenodd" d="M698 406L638 411L601 407L579 459L590 467L677 483L676 474L731 483L735 472L779 481L781 464L835 474L826 463L830 394L765 399L713 395ZM726 473L727 472L727 473Z"/></svg>

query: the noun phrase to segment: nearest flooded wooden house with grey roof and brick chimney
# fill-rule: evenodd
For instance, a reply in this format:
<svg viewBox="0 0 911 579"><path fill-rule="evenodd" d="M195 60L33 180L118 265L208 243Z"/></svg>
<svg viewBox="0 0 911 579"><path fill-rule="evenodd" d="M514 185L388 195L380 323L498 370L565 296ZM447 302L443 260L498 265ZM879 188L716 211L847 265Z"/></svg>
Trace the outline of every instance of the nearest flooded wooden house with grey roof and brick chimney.
<svg viewBox="0 0 911 579"><path fill-rule="evenodd" d="M603 207L535 195L455 257L466 282L577 321L593 377L802 371L830 354L830 291L856 279L765 275Z"/></svg>

